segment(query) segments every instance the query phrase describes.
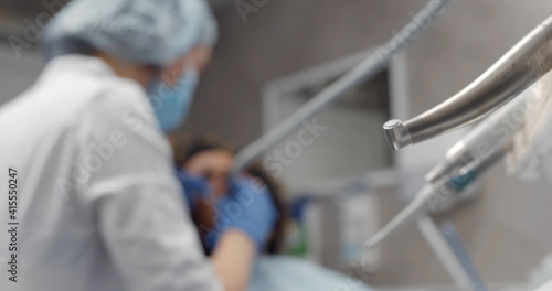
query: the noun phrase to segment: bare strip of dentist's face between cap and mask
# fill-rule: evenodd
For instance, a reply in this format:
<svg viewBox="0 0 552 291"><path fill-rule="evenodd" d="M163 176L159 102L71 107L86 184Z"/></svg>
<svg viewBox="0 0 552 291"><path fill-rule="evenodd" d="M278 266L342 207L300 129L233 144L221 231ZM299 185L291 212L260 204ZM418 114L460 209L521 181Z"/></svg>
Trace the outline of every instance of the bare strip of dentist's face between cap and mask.
<svg viewBox="0 0 552 291"><path fill-rule="evenodd" d="M170 86L174 86L189 66L203 73L211 62L212 52L213 50L209 46L195 46L188 54L164 67L161 72L161 78Z"/></svg>

